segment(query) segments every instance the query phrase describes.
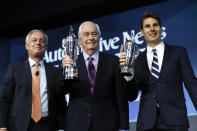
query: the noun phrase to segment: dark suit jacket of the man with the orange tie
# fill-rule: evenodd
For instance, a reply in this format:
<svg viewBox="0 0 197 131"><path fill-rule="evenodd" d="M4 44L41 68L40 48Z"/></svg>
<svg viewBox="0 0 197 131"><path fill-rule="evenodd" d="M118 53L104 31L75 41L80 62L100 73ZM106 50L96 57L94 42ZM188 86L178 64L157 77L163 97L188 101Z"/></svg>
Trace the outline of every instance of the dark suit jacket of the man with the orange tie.
<svg viewBox="0 0 197 131"><path fill-rule="evenodd" d="M61 84L59 71L45 64L48 108L51 128L57 130L58 121L63 120L64 98L58 93ZM61 105L61 108L57 108ZM32 74L29 61L10 64L0 88L0 128L8 131L26 131L31 119ZM62 116L61 116L62 115ZM63 125L62 125L63 126Z"/></svg>

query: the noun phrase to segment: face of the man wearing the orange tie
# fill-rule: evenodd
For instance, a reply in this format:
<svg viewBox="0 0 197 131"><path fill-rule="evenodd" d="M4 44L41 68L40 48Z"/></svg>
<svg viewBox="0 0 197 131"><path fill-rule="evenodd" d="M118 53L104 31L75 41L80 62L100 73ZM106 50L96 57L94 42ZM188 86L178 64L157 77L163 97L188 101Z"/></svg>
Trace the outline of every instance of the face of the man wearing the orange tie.
<svg viewBox="0 0 197 131"><path fill-rule="evenodd" d="M40 31L31 33L25 47L30 58L42 60L47 48L44 34Z"/></svg>

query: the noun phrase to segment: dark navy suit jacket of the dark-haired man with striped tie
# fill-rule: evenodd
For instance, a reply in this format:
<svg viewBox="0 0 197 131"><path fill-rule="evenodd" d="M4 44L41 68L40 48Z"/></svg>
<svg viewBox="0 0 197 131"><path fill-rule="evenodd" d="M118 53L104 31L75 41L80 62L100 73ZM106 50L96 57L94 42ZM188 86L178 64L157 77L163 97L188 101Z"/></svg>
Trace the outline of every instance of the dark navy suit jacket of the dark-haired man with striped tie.
<svg viewBox="0 0 197 131"><path fill-rule="evenodd" d="M159 80L150 82L151 77L146 51L144 51L139 55L135 64L135 81L139 90L142 91L137 127L153 128L157 117L156 102L167 124L189 126L183 82L197 108L197 79L186 49L165 44Z"/></svg>

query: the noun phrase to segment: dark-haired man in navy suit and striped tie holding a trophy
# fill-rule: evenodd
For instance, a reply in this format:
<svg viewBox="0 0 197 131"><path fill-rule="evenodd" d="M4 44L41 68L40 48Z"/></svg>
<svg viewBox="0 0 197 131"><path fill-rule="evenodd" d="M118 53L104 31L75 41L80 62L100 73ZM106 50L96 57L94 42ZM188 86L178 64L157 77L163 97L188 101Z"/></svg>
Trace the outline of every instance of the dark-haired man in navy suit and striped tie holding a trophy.
<svg viewBox="0 0 197 131"><path fill-rule="evenodd" d="M140 24L147 49L137 58L134 79L127 86L127 92L142 92L137 131L188 131L183 82L197 109L197 79L187 51L161 40L157 14L145 12ZM121 55L120 65L124 63L125 55ZM129 84L132 81L137 87Z"/></svg>

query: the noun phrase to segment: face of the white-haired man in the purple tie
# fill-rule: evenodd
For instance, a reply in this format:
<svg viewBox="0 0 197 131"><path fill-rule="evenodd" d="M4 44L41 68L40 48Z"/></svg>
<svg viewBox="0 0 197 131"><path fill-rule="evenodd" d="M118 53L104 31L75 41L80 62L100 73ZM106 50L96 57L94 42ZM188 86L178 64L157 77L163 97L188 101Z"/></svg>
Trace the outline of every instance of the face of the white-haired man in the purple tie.
<svg viewBox="0 0 197 131"><path fill-rule="evenodd" d="M83 50L88 55L93 55L97 51L99 44L99 33L96 25L92 22L84 23L81 26L79 40Z"/></svg>

